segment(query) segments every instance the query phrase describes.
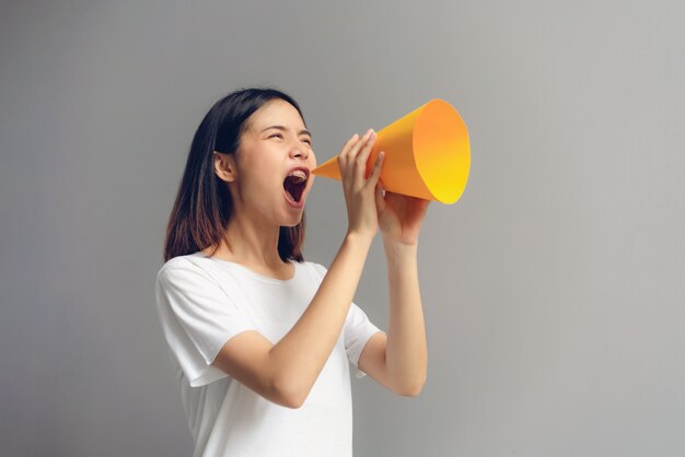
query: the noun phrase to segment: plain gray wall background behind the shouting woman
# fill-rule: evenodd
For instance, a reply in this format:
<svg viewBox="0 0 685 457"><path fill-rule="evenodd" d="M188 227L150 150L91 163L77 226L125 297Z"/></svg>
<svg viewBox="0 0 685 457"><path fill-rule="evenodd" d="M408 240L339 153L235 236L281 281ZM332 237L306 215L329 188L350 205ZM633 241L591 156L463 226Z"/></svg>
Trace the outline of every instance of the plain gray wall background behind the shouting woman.
<svg viewBox="0 0 685 457"><path fill-rule="evenodd" d="M353 380L357 456L684 456L683 3L321 3L3 2L0 455L190 455L164 228L207 109L274 84L320 163L433 97L469 129L421 234L428 384ZM329 265L339 183L307 218ZM356 302L386 328L378 242Z"/></svg>

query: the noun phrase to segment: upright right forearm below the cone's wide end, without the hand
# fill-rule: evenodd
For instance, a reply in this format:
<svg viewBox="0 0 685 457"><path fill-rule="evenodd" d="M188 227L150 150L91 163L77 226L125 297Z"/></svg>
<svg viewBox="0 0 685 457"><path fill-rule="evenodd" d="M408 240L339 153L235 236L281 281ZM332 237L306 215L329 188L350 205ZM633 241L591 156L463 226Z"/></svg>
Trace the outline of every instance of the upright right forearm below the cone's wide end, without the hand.
<svg viewBox="0 0 685 457"><path fill-rule="evenodd" d="M426 383L428 350L417 246L385 243L385 253L390 285L386 367L397 391L418 394Z"/></svg>

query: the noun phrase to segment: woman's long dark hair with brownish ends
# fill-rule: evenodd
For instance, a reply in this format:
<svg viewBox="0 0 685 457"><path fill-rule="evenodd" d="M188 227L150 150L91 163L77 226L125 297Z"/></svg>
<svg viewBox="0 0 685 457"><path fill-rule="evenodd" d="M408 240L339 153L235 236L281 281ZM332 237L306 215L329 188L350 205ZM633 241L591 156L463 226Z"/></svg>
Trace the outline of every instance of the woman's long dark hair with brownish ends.
<svg viewBox="0 0 685 457"><path fill-rule="evenodd" d="M224 181L214 173L213 152L235 154L246 120L267 102L280 98L291 104L302 118L298 103L281 91L241 89L218 101L207 113L193 138L176 201L169 218L164 239L164 262L214 246L231 248L225 231L233 212L233 200ZM306 124L305 124L306 126ZM283 261L303 261L305 218L295 226L281 226L278 255Z"/></svg>

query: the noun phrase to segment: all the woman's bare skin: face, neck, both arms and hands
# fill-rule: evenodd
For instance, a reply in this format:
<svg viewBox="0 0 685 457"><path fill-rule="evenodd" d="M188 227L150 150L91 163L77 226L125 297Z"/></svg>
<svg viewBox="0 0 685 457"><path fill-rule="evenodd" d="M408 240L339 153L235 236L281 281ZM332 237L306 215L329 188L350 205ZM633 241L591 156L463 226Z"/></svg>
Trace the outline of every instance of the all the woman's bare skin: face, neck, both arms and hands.
<svg viewBox="0 0 685 457"><path fill-rule="evenodd" d="M280 125L285 129L265 130ZM288 206L282 180L292 166L316 164L304 122L297 109L277 99L248 119L235 157L216 153L214 169L235 201L227 228L234 250L221 245L216 257L237 261L254 271L289 279L293 266L277 251L280 225L295 225L302 210ZM280 136L275 134L280 133ZM348 230L312 302L292 329L276 344L258 331L229 340L212 365L278 405L299 408L306 399L342 330L371 243L381 232L390 285L388 331L367 342L359 367L381 385L403 396L417 396L427 374L427 344L419 293L418 236L429 202L383 191L384 154L369 177L365 163L375 133L355 134L338 154ZM302 198L306 198L313 176ZM210 249L208 248L207 254Z"/></svg>

